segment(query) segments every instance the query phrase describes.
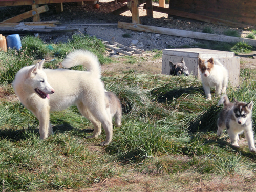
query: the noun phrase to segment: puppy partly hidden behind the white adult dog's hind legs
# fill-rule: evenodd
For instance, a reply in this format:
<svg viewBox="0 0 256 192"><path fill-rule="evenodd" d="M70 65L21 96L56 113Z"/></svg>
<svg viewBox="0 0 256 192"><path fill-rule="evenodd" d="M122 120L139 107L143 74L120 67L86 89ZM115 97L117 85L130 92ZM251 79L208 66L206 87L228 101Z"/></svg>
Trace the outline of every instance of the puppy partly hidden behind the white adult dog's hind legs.
<svg viewBox="0 0 256 192"><path fill-rule="evenodd" d="M111 119L115 117L115 124L116 126L121 126L121 119L122 119L122 107L120 100L113 92L105 91L106 96L106 107L109 110L111 115Z"/></svg>

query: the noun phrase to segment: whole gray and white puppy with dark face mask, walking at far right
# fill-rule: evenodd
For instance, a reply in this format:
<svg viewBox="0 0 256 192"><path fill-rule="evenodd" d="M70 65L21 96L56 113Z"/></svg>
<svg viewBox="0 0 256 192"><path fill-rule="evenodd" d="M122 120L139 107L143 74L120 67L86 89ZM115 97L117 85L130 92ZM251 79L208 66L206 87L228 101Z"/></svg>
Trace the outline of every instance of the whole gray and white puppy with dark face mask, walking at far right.
<svg viewBox="0 0 256 192"><path fill-rule="evenodd" d="M227 95L223 95L218 102L218 105L224 104L224 108L219 114L217 135L220 137L223 130L227 129L231 144L239 147L239 135L244 132L249 150L256 152L251 120L253 102L246 103L233 100L234 102L231 103Z"/></svg>

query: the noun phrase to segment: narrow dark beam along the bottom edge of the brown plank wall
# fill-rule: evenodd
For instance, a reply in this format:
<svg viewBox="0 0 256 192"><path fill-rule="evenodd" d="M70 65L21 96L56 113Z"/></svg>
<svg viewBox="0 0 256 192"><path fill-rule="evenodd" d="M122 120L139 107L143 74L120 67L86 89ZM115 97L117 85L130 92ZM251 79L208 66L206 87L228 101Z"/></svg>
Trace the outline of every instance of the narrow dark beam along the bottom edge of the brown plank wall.
<svg viewBox="0 0 256 192"><path fill-rule="evenodd" d="M146 5L143 6L143 9L147 9ZM223 20L223 19L218 19L218 18L212 18L209 16L203 16L203 15L198 15L194 13L188 13L185 11L179 11L175 9L168 9L168 8L162 8L158 6L153 6L153 11L161 12L161 13L167 13L169 15L174 15L174 16L179 16L179 17L184 17L184 18L190 18L190 19L195 19L195 20L200 20L202 22L208 22L212 24L218 24L218 25L226 25L230 27L249 27L252 29L256 29L255 26L251 25L245 25L237 22L231 22L229 20Z"/></svg>

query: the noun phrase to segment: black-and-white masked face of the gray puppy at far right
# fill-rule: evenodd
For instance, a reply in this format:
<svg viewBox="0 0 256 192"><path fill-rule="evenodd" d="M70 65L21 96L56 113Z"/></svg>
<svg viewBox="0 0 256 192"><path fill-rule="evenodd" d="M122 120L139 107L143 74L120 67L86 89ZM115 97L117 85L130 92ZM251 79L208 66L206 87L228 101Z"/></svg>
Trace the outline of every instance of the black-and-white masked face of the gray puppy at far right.
<svg viewBox="0 0 256 192"><path fill-rule="evenodd" d="M243 125L246 122L248 115L251 113L252 105L252 101L247 104L236 101L233 115L239 125Z"/></svg>

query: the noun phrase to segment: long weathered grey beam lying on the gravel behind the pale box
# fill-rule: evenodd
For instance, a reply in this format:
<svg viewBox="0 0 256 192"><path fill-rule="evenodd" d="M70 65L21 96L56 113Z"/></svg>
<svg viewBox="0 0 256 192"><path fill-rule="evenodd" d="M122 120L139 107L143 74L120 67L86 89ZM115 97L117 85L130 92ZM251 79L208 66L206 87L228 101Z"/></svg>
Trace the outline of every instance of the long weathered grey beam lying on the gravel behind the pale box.
<svg viewBox="0 0 256 192"><path fill-rule="evenodd" d="M169 28L147 26L147 25L141 25L141 24L131 24L131 23L125 23L125 22L118 22L117 27L123 28L123 29L136 30L136 31L160 33L165 35L173 35L173 36L188 37L188 38L203 39L203 40L212 40L212 41L219 41L219 42L229 42L229 43L246 42L251 46L256 46L256 40L240 38L240 37L230 37L230 36L224 36L224 35L185 31L185 30L179 30L179 29L169 29Z"/></svg>

